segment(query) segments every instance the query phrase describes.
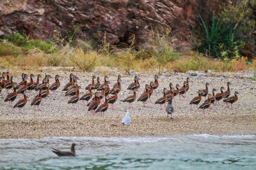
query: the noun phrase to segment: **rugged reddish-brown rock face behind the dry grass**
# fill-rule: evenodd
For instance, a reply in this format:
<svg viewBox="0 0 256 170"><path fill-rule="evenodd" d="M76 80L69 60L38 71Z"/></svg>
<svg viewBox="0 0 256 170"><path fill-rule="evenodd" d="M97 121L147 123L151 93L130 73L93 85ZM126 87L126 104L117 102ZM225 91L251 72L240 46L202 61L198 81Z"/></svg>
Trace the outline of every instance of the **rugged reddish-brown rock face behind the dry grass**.
<svg viewBox="0 0 256 170"><path fill-rule="evenodd" d="M96 42L106 35L112 45L135 36L135 45L145 47L151 27L163 26L172 29L180 48L191 37L197 12L211 17L222 3L227 0L6 0L0 4L0 32L53 39L56 31L67 38L76 30L76 37Z"/></svg>

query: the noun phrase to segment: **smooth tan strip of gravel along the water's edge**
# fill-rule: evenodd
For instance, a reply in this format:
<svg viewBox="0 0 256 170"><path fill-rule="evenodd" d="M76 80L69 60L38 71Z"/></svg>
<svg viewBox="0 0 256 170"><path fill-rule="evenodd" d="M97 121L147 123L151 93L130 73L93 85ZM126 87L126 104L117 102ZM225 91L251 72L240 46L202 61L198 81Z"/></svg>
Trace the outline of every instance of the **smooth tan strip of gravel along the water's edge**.
<svg viewBox="0 0 256 170"><path fill-rule="evenodd" d="M154 118L131 116L131 118L134 120L131 125L121 125L120 120L122 117L104 118L104 120L99 117L77 117L69 118L68 120L52 118L41 118L39 120L0 120L1 129L8 129L8 131L1 131L0 136L2 139L64 136L165 138L191 134L256 134L256 124L254 124L256 121L255 115L227 115L225 120L221 120L218 115L204 115L204 117L200 115L179 115L179 117L175 117L174 120L171 120L173 122L170 122L170 119L165 116ZM242 121L240 121L241 118L243 118ZM234 124L236 120L239 121ZM150 122L150 124L147 122ZM152 122L155 123L151 124ZM99 123L102 124L99 125ZM90 129L90 131L88 131L88 129Z"/></svg>

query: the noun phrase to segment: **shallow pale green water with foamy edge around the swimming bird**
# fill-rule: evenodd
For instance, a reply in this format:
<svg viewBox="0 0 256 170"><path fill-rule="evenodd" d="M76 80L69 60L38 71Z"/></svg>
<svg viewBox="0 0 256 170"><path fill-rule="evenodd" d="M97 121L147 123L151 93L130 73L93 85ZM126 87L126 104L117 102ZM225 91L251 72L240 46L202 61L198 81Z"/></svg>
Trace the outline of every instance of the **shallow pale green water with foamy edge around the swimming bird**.
<svg viewBox="0 0 256 170"><path fill-rule="evenodd" d="M256 136L0 139L0 169L256 169Z"/></svg>

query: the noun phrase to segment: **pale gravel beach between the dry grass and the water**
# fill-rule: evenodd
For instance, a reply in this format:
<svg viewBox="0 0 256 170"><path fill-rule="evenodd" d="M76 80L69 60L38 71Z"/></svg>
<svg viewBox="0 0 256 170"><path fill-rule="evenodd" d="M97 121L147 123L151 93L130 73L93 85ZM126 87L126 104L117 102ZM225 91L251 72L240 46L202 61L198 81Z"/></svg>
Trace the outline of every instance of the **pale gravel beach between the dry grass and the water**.
<svg viewBox="0 0 256 170"><path fill-rule="evenodd" d="M22 71L16 72L20 75L22 73ZM173 102L174 119L171 120L170 117L166 117L164 110L159 110L159 104L148 101L147 108L143 108L143 103L135 101L132 103L134 109L129 109L128 103L120 101L131 95L131 92L126 89L134 81L134 74L128 76L115 70L109 73L110 86L116 83L117 75L122 74L122 90L118 94L118 101L113 105L114 110L111 110L111 104L109 104L109 109L105 112L104 117L100 117L100 114L93 116L87 111L87 107L84 107L81 101L76 104L77 110L72 110L72 104L67 103L70 97L65 97L61 89L68 82L70 71L63 69L51 69L50 71L47 69L45 71L42 69L40 74L44 76L46 72L52 77L55 74L60 74L61 87L57 94L51 93L49 97L44 99L45 105L40 106L43 111L34 111L33 106L30 106L36 92L28 94L28 103L22 108L24 114L20 114L16 108L9 108L8 103L4 103L6 89L3 89L0 94L0 138L173 136L205 133L218 135L256 134L256 81L250 78L239 78L237 73L225 73L225 76L220 73L218 75L214 73L198 74L198 76L191 76L189 73L171 73L161 76L158 93L154 93L151 97L153 102L163 96L161 91L164 87L168 88L170 82L173 85L176 83L182 85L187 76L191 80L186 98L175 97L175 102ZM82 93L86 85L92 81L92 75L98 76L97 72L89 74L73 71L72 73L81 79L78 82L82 87ZM38 73L34 74L37 75ZM154 80L154 73L138 73L137 75L141 79L141 87L137 92L138 99L145 89L145 84ZM100 80L103 81L104 75L99 76ZM21 78L15 77L14 80L19 82ZM205 88L206 82L211 84L210 92L212 88L216 88L220 92L221 86L227 89L227 81L232 83L230 85L231 96L236 90L240 93L238 101L233 104L233 110L225 108L223 101L220 101L220 106L212 106L212 110L205 110L205 115L202 114L202 110L190 111L189 101L198 95L199 89ZM52 82L54 79L50 83ZM17 101L18 99L14 101L13 105ZM204 97L200 104L203 101ZM130 125L121 125L122 117L126 111L131 113L132 122Z"/></svg>

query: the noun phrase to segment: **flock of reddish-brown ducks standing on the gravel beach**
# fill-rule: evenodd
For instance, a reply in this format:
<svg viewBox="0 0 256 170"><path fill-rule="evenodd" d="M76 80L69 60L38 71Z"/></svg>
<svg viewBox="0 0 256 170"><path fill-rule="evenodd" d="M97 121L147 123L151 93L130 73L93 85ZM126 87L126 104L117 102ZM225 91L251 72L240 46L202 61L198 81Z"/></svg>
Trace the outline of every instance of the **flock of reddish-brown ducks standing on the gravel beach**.
<svg viewBox="0 0 256 170"><path fill-rule="evenodd" d="M38 93L31 101L31 106L35 106L35 110L37 107L37 110L40 109L40 104L44 104L43 99L47 96L49 96L49 90L52 90L52 94L56 94L56 90L60 87L60 76L57 74L55 76L55 82L50 84L49 79L52 78L50 75L45 75L44 79L42 80L42 83L40 83L40 78L42 76L38 74L36 81L33 80L35 76L33 74L30 74L28 78L28 74L22 73L22 81L19 83L13 82L13 76L10 77L9 72L3 72L2 76L0 77L0 92L2 89L6 89L7 96L4 99L4 102L9 101L9 106L12 108L19 108L19 113L22 113L22 107L26 105L28 99L26 97L27 93L31 93L32 90L37 91ZM83 96L79 95L79 90L81 89L81 86L78 85L77 80L79 78L75 75L70 73L69 76L70 80L69 82L64 86L62 91L65 92L65 96L71 96L68 100L68 103L72 103L73 109L76 110L75 104L78 101L86 101L86 104L84 106L88 106L88 111L91 111L93 115L95 113L100 112L102 117L104 116L104 112L108 110L109 103L111 104L111 108L113 109L113 104L118 100L118 93L121 90L121 81L122 76L118 75L117 82L113 85L113 87L110 89L109 87L109 81L108 76L104 76L104 83L100 83L100 78L97 77L97 81L95 82L96 76L92 76L92 83L87 85L85 88L88 90ZM158 82L159 76L154 76L154 81L150 81L149 84L145 85L145 91L138 97L137 101L141 101L143 103L143 106L145 107L146 102L151 99L150 97L152 94L156 92L156 89L159 87ZM28 82L29 80L29 82ZM237 95L239 92L235 92L234 96L230 96L230 85L232 85L230 82L227 83L227 90L224 92L225 88L220 88L220 93L215 94L217 91L216 89L212 89L212 95L209 94L209 83L205 83L205 89L198 90L198 96L194 97L191 102L189 103L191 105L191 110L193 110L192 105L196 104L198 108L198 104L202 100L202 96L207 99L204 101L203 104L200 105L200 109L203 110L203 114L205 114L205 109L209 108L211 109L211 104L220 104L219 101L223 99L223 101L227 104L235 103L238 99ZM163 97L160 97L157 99L155 104L160 104L160 109L163 110L162 105L166 106L166 102L168 102L166 106L166 112L167 116L170 114L172 118L172 113L174 111L174 108L172 106L172 100L175 101L175 96L179 95L180 97L186 97L186 92L189 90L189 77L186 78L186 81L184 81L182 87L177 84L175 86L175 89L173 88L173 84L170 83L170 89L167 88L163 89ZM9 90L13 89L13 92L9 93ZM132 91L132 95L126 97L124 100L122 100L124 103L129 103L129 108L133 108L132 103L136 101L136 92L138 92L138 89L140 89L140 78L138 76L134 77L134 82L132 82L128 87L128 90ZM93 94L94 91L94 94ZM19 94L23 94L23 98L20 98ZM12 102L19 96L19 101L12 106ZM90 101L90 102L89 102Z"/></svg>

